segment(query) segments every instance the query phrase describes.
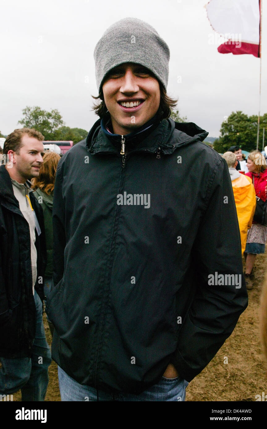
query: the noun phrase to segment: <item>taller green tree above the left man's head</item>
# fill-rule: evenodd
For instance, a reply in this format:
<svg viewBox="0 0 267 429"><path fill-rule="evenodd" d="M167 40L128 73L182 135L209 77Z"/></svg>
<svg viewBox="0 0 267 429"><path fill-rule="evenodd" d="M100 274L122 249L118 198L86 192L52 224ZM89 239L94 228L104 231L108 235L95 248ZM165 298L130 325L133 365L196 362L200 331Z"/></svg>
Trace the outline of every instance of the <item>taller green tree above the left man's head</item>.
<svg viewBox="0 0 267 429"><path fill-rule="evenodd" d="M45 137L45 140L54 140L55 131L64 125L61 114L57 109L52 109L51 112L42 110L39 106L26 106L22 110L24 118L18 121L18 124L26 128L34 128L40 131Z"/></svg>

